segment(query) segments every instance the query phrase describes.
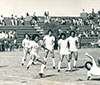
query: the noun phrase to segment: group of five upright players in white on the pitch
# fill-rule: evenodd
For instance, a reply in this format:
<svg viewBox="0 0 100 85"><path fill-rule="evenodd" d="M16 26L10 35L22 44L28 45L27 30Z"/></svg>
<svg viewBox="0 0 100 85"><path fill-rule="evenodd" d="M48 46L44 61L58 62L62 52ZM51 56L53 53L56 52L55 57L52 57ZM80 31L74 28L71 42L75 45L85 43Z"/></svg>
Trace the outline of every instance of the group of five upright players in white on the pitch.
<svg viewBox="0 0 100 85"><path fill-rule="evenodd" d="M68 71L71 72L72 68L76 68L76 62L78 60L78 38L75 35L75 31L70 32L70 36L66 37L66 34L62 33L60 39L58 40L58 52L61 55L58 63L58 72L61 71L61 63L64 57L68 60ZM33 35L30 39L29 34L25 34L25 38L22 41L22 46L24 50L24 56L22 57L22 65L27 59L28 54L30 55L30 60L27 64L27 69L30 68L35 61L41 63L41 71L39 73L40 77L44 75L44 69L47 64L48 54L51 54L53 69L55 69L55 54L54 54L54 44L55 37L53 36L52 30L48 31L48 34L43 37L43 43L40 43L39 35ZM39 49L43 48L45 50L45 57L39 55ZM71 59L74 57L74 65L71 67Z"/></svg>

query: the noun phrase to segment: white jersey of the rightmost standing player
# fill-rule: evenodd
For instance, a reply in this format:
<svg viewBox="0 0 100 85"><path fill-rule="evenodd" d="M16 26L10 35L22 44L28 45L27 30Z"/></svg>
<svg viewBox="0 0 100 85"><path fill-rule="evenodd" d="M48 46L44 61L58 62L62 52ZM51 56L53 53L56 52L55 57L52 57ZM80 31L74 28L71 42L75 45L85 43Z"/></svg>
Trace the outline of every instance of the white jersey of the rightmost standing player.
<svg viewBox="0 0 100 85"><path fill-rule="evenodd" d="M77 46L76 46L76 42L78 42L78 38L70 36L67 39L70 44L70 51L71 52L78 51Z"/></svg>

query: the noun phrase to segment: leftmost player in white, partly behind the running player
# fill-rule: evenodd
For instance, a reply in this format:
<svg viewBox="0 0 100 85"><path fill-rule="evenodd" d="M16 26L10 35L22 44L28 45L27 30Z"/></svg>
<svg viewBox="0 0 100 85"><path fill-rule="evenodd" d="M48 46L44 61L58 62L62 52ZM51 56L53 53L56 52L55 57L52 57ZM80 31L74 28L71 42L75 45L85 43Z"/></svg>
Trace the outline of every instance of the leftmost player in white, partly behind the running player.
<svg viewBox="0 0 100 85"><path fill-rule="evenodd" d="M24 40L22 41L24 56L22 57L22 65L24 65L24 61L26 61L27 55L29 54L29 45L30 45L30 39L29 34L24 35Z"/></svg>

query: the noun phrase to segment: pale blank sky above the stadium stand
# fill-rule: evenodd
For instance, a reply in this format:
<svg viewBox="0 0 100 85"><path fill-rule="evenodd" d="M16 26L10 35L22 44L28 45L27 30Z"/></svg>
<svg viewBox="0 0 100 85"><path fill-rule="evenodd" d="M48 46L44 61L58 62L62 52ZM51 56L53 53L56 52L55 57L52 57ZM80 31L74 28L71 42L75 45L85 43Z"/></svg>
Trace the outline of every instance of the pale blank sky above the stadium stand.
<svg viewBox="0 0 100 85"><path fill-rule="evenodd" d="M0 15L25 16L26 12L43 16L49 11L50 16L80 16L82 9L91 12L100 10L100 0L0 0Z"/></svg>

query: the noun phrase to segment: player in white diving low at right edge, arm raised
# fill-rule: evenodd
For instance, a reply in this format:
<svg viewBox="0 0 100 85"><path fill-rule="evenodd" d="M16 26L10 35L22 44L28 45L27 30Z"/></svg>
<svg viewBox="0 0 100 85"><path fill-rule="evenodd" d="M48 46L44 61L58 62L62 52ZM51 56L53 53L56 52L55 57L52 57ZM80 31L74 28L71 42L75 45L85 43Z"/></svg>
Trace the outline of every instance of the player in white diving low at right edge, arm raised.
<svg viewBox="0 0 100 85"><path fill-rule="evenodd" d="M85 67L88 70L87 80L89 80L92 75L100 76L100 67L97 66L94 58L91 55L89 55L88 53L85 53L85 55L88 56L92 60L92 62L88 61L85 63Z"/></svg>

